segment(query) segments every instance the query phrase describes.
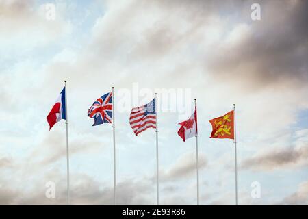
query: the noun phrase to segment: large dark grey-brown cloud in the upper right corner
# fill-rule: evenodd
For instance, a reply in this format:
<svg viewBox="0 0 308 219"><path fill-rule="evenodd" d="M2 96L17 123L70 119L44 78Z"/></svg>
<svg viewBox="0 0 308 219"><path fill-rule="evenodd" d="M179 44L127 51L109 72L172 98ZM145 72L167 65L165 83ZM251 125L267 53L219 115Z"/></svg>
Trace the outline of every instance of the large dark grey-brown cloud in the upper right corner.
<svg viewBox="0 0 308 219"><path fill-rule="evenodd" d="M207 68L217 79L246 79L245 86L306 86L308 81L308 1L259 1L261 21L249 21L236 44L222 43ZM233 26L231 28L235 28Z"/></svg>

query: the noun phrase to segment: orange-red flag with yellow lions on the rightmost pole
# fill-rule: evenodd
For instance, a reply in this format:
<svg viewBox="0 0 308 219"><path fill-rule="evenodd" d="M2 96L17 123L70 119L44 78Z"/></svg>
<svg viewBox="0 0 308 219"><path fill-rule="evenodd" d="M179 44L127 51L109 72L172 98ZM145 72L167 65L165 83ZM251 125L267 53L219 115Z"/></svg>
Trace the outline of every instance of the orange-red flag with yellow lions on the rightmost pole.
<svg viewBox="0 0 308 219"><path fill-rule="evenodd" d="M214 118L209 121L213 131L211 138L231 138L234 139L234 110L224 116Z"/></svg>

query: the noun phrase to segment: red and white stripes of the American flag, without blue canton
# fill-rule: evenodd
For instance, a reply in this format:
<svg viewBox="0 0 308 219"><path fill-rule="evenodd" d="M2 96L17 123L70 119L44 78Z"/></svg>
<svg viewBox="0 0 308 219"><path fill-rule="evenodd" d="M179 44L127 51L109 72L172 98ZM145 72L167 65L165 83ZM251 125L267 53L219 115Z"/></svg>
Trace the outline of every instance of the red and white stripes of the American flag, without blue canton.
<svg viewBox="0 0 308 219"><path fill-rule="evenodd" d="M147 114L144 116L144 105L142 107L136 107L131 110L129 123L131 124L131 129L133 129L133 133L138 136L139 133L148 128L156 129L156 114Z"/></svg>

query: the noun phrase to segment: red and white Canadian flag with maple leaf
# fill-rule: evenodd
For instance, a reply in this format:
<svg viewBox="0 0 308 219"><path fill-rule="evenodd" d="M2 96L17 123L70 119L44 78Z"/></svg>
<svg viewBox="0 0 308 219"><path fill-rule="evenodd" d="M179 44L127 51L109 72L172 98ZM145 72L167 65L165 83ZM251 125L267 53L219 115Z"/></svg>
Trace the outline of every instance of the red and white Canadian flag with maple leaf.
<svg viewBox="0 0 308 219"><path fill-rule="evenodd" d="M181 125L181 127L179 128L179 131L177 131L177 133L184 142L186 139L194 137L198 134L196 107L192 116L190 116L188 120L179 123L179 125Z"/></svg>

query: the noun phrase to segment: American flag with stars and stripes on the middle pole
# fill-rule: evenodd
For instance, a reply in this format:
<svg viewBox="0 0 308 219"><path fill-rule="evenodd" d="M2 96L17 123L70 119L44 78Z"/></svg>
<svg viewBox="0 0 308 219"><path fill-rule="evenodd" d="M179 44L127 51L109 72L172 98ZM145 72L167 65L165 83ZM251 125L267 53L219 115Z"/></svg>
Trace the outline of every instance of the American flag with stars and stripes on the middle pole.
<svg viewBox="0 0 308 219"><path fill-rule="evenodd" d="M155 99L146 105L133 108L129 123L136 136L148 128L156 129Z"/></svg>

